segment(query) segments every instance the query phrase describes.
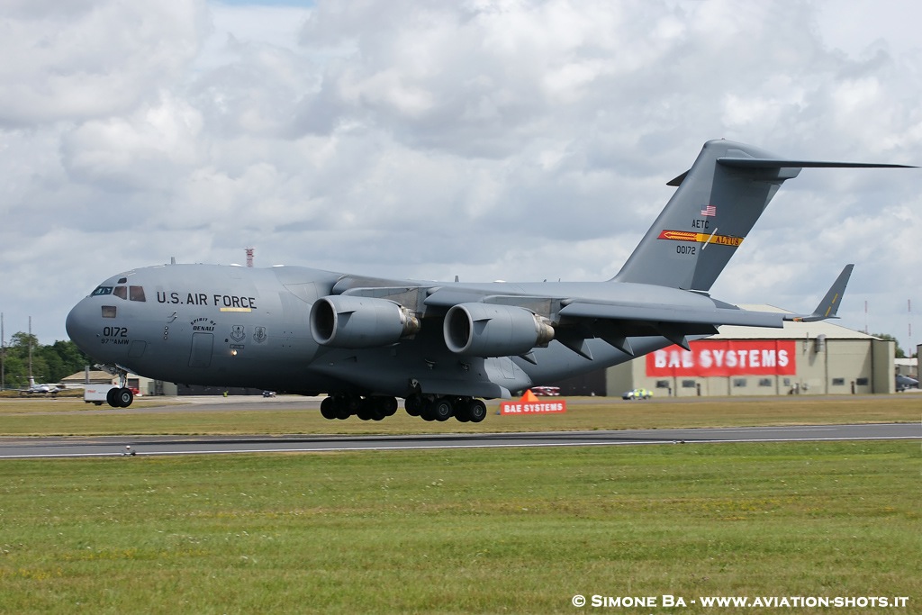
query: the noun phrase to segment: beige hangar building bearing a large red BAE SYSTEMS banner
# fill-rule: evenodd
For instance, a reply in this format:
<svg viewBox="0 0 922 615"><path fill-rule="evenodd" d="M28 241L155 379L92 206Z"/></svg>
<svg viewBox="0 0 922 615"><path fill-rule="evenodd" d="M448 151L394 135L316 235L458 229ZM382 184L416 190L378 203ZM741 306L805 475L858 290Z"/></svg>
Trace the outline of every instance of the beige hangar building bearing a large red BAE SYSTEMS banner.
<svg viewBox="0 0 922 615"><path fill-rule="evenodd" d="M742 306L785 312L770 305ZM609 396L633 388L654 396L859 395L893 393L892 341L831 321L784 328L721 326L716 336L658 350L609 368Z"/></svg>

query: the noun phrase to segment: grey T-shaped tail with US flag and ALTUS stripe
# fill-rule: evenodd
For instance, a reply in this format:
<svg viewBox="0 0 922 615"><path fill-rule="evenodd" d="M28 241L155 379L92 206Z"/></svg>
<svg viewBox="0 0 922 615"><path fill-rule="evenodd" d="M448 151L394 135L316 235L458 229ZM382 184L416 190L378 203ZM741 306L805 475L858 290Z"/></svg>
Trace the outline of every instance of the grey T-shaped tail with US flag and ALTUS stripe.
<svg viewBox="0 0 922 615"><path fill-rule="evenodd" d="M708 141L612 281L710 290L785 180L805 167L898 164L786 160L732 141Z"/></svg>

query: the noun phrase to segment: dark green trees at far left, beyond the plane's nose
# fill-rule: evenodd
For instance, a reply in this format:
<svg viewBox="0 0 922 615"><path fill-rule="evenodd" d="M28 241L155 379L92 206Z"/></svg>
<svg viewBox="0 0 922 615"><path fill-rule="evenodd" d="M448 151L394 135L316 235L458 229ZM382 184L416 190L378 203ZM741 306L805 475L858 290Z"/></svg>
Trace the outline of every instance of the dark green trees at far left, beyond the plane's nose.
<svg viewBox="0 0 922 615"><path fill-rule="evenodd" d="M41 345L35 336L18 332L10 337L3 352L3 382L6 388L29 385L29 348L32 348L32 375L36 383L58 383L72 373L80 372L92 363L77 344L56 341Z"/></svg>

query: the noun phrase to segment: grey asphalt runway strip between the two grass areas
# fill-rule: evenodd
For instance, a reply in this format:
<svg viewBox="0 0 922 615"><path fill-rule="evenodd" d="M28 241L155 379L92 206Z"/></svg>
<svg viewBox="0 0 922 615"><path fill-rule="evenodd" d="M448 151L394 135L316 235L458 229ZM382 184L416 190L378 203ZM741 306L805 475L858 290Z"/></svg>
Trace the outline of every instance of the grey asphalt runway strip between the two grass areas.
<svg viewBox="0 0 922 615"><path fill-rule="evenodd" d="M922 423L403 436L7 437L0 438L0 459L862 440L922 441Z"/></svg>

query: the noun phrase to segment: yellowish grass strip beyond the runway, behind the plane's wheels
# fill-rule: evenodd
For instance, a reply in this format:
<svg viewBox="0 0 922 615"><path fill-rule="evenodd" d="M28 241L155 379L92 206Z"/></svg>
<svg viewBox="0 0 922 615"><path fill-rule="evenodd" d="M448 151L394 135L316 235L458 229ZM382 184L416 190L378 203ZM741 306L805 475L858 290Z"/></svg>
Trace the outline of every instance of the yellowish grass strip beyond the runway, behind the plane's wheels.
<svg viewBox="0 0 922 615"><path fill-rule="evenodd" d="M245 401L246 398L242 398ZM565 414L497 416L491 402L481 423L426 422L403 409L380 422L325 420L309 403L271 401L258 410L203 408L196 404L158 408L164 401L141 399L126 410L100 409L80 400L0 400L0 435L114 434L289 434L289 433L467 433L525 431L589 431L666 429L672 427L737 427L821 423L918 422L922 395L701 398L680 402L627 402L611 397L568 399ZM106 408L106 407L102 407Z"/></svg>

